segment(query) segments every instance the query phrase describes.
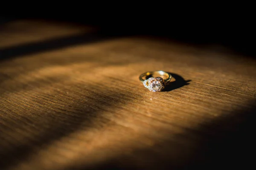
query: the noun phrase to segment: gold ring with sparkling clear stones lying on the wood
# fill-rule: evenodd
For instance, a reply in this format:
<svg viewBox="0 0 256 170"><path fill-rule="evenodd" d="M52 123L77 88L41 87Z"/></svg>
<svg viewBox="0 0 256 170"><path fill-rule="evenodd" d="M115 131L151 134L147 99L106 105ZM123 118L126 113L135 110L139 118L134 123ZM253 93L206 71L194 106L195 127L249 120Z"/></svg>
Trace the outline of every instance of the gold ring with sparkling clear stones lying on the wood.
<svg viewBox="0 0 256 170"><path fill-rule="evenodd" d="M165 71L148 71L140 75L140 81L149 91L162 91L172 79L172 75Z"/></svg>

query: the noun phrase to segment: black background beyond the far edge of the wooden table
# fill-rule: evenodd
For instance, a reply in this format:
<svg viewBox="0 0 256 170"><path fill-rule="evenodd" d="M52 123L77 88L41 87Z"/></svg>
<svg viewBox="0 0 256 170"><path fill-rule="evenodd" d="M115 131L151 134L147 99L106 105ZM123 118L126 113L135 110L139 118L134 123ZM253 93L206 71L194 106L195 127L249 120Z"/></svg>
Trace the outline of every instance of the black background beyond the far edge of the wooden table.
<svg viewBox="0 0 256 170"><path fill-rule="evenodd" d="M47 4L38 3L38 7L41 5ZM256 54L255 17L249 4L245 7L201 4L179 9L172 2L156 6L152 3L150 7L147 4L140 7L137 4L102 4L101 7L70 4L70 8L60 4L51 9L43 6L38 9L26 7L16 14L1 14L0 23L17 19L70 22L97 26L104 34L166 37L192 45L219 45L239 55L254 57Z"/></svg>

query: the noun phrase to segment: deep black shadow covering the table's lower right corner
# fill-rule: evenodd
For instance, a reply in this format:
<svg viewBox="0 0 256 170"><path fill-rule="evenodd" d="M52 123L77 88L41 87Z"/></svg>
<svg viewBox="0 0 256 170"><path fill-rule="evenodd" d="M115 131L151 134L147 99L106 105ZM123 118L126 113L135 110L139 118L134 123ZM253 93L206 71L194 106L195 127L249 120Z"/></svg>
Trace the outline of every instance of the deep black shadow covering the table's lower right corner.
<svg viewBox="0 0 256 170"><path fill-rule="evenodd" d="M182 135L170 137L148 149L136 150L132 155L124 154L91 167L68 167L65 170L250 169L254 165L252 155L256 142L253 135L255 105L254 101L248 108L204 123L197 129L187 129ZM183 144L176 143L177 139Z"/></svg>

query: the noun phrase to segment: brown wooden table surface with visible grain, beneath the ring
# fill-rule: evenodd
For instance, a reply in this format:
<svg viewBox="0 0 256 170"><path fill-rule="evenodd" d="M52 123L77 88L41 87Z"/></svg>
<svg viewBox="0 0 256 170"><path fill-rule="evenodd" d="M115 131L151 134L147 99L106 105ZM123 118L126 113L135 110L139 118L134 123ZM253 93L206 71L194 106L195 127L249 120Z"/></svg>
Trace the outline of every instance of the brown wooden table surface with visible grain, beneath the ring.
<svg viewBox="0 0 256 170"><path fill-rule="evenodd" d="M139 81L155 70L172 73L166 91ZM0 169L247 169L255 75L255 59L216 45L4 23Z"/></svg>

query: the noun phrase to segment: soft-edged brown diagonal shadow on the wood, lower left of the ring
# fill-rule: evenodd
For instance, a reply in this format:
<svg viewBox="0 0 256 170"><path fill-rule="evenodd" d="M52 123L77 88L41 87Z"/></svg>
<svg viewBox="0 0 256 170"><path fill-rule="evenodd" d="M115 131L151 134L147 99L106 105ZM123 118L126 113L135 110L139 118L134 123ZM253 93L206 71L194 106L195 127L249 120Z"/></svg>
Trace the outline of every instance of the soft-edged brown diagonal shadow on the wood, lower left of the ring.
<svg viewBox="0 0 256 170"><path fill-rule="evenodd" d="M106 93L111 102L106 101ZM32 109L28 108L25 114L7 114L1 116L4 124L0 124L0 169L7 169L29 159L31 154L37 152L38 149L42 149L48 144L58 141L80 128L90 128L94 119L100 116L101 113L99 111L107 108L115 108L118 100L128 100L122 92L113 93L106 90L97 91L94 94L90 93L90 100L87 102L83 102L84 96L87 96L87 94L77 96L76 98L70 99L70 101L63 101L63 97L61 96L56 96L55 98L49 96L47 99L49 106L47 104L45 107L42 105L41 110L37 110L34 113L31 112ZM132 99L132 96L129 98ZM38 100L41 103L44 99L38 98L33 100ZM51 107L50 102L55 103L54 110L48 108ZM70 105L70 109L63 110L63 104L61 103L66 105L66 108ZM76 106L71 103L76 103ZM101 109L99 110L97 108ZM8 118L9 116L11 117ZM105 119L101 121L101 123L108 122ZM95 125L93 127L97 128ZM31 133L32 129L37 132Z"/></svg>

